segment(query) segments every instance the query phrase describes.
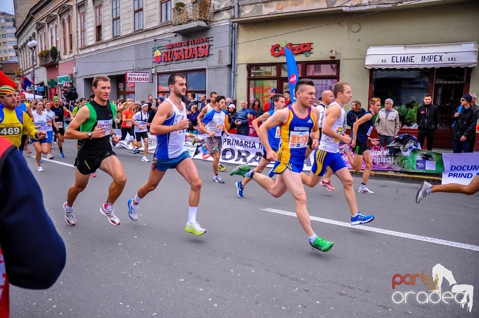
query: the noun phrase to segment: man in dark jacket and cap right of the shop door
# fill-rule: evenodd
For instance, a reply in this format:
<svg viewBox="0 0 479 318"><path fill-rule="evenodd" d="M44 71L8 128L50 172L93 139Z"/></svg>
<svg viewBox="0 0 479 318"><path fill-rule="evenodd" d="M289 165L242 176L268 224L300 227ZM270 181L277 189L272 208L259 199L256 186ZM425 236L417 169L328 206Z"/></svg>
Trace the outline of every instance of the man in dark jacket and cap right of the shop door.
<svg viewBox="0 0 479 318"><path fill-rule="evenodd" d="M453 153L469 153L470 143L476 135L476 122L478 113L471 108L473 98L465 94L461 98L461 106L454 112L453 124Z"/></svg>

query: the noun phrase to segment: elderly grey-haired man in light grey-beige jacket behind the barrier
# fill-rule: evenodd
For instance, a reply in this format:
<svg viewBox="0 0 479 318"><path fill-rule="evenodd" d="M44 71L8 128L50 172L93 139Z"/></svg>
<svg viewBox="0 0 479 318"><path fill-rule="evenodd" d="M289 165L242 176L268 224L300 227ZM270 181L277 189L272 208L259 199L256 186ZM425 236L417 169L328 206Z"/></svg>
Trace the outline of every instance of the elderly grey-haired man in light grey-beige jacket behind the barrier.
<svg viewBox="0 0 479 318"><path fill-rule="evenodd" d="M399 133L399 113L393 108L393 100L388 98L384 101L384 108L376 117L376 130L379 135L379 144L387 146L391 144Z"/></svg>

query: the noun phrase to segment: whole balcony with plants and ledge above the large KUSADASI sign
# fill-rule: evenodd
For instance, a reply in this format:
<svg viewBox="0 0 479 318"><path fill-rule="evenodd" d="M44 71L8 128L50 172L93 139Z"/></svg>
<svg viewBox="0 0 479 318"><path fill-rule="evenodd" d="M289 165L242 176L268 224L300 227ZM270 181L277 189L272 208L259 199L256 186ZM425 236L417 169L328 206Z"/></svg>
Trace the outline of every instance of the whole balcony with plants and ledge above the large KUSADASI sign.
<svg viewBox="0 0 479 318"><path fill-rule="evenodd" d="M179 33L184 29L195 27L209 28L213 21L213 3L211 0L192 0L190 3L176 2L173 8L172 32Z"/></svg>

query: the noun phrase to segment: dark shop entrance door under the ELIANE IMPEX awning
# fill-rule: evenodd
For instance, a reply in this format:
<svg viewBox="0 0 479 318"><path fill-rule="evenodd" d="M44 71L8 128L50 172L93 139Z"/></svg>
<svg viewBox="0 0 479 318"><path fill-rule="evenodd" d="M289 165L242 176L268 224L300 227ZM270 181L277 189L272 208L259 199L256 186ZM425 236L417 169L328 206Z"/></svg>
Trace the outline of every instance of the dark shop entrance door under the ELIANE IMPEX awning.
<svg viewBox="0 0 479 318"><path fill-rule="evenodd" d="M454 110L460 105L464 94L464 82L455 84L436 83L433 103L439 108L439 128L436 131L433 147L452 148L452 118Z"/></svg>

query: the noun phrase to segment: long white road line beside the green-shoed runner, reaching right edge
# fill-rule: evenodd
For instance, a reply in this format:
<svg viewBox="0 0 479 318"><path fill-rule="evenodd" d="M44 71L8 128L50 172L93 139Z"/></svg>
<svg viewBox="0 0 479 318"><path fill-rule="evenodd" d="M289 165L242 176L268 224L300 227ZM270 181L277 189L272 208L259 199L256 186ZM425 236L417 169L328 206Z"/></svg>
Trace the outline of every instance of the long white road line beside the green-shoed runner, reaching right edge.
<svg viewBox="0 0 479 318"><path fill-rule="evenodd" d="M282 211L282 210L271 209L271 208L262 208L260 210L296 217L296 213L289 212L289 211ZM330 220L330 219L324 219L324 218L316 217L316 216L310 216L309 219L311 219L313 221L327 223L327 224L339 225L339 226L344 226L344 227L354 227L355 229L360 229L360 230L364 230L364 231L370 231L370 232L376 232L376 233L386 234L386 235L391 235L391 236L409 238L409 239L412 239L412 240L418 240L418 241L429 242L429 243L434 243L434 244L447 245L447 246L452 246L452 247L459 247L459 248L463 248L463 249L466 249L466 250L479 252L479 246L476 246L476 245L469 245L469 244L463 244L463 243L458 243L458 242L453 242L453 241L446 241L446 240L441 240L441 239L428 237L428 236L422 236L422 235L415 235L415 234L396 232L396 231L391 231L391 230L378 229L378 228L375 228L375 227L364 226L364 225L354 225L354 226L352 226L351 223L346 223L346 222L341 222L341 221L336 221L336 220Z"/></svg>

